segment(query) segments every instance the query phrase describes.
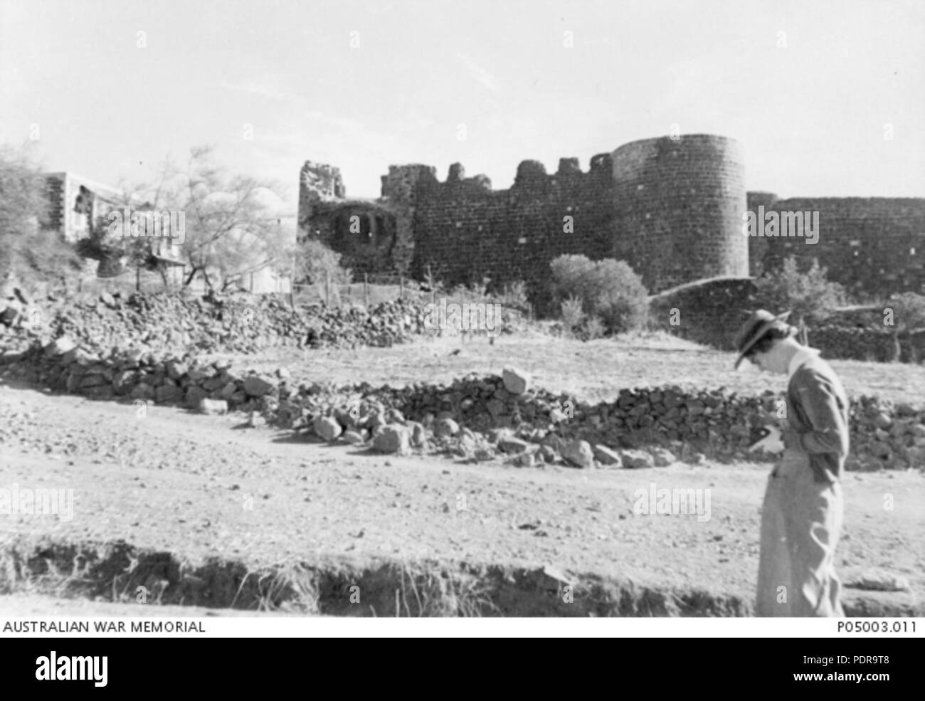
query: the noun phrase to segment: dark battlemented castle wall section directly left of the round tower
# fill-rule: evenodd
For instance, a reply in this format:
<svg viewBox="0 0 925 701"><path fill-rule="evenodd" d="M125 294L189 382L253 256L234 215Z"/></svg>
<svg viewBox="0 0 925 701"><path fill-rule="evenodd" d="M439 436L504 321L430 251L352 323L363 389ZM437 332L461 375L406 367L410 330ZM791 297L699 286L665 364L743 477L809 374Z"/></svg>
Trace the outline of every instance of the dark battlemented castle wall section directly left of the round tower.
<svg viewBox="0 0 925 701"><path fill-rule="evenodd" d="M524 161L510 190L491 191L487 178L429 181L417 192L411 273L428 269L450 285L489 277L501 286L524 281L539 290L549 263L563 253L605 257L610 249L611 172L607 154L582 172L577 159L562 159L548 175Z"/></svg>

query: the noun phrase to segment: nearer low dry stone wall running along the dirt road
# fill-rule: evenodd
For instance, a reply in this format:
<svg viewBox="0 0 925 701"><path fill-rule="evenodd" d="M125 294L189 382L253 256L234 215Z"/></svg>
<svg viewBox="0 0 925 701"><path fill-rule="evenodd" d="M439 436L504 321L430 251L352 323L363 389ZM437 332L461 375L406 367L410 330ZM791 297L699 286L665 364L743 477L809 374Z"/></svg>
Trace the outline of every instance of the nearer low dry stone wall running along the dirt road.
<svg viewBox="0 0 925 701"><path fill-rule="evenodd" d="M510 438L523 441L524 452L531 444L542 444L553 461L564 457L575 441L611 449L659 446L679 451L677 457L685 460L697 453L719 460L760 460L746 449L761 437L780 400L771 392L747 397L720 389L650 387L624 389L615 401L587 404L527 387L529 379L519 380L517 373L514 379L468 375L449 387L297 384L283 368L276 375L242 375L227 361L205 364L139 350L103 358L68 338L7 355L6 363L7 374L96 399L259 412L262 420L280 428L327 439L346 431L357 443L375 441L389 424L407 428L422 447L440 433L462 440L465 430L469 449L483 455L493 454L502 438ZM317 423L323 419L327 424ZM455 428L441 429L441 422ZM919 468L925 464L923 422L921 408L869 397L852 400L849 469Z"/></svg>

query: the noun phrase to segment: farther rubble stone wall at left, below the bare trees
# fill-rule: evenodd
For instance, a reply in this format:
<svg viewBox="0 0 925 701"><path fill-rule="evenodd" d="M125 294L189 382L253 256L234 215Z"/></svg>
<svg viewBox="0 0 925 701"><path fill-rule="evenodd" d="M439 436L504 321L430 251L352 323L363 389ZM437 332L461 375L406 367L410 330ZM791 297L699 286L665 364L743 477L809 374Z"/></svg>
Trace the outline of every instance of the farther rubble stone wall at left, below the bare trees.
<svg viewBox="0 0 925 701"><path fill-rule="evenodd" d="M198 353L253 353L277 346L385 347L437 332L428 326L424 305L401 299L368 310L324 305L292 309L288 301L269 295L203 298L136 292L127 299L104 293L92 302L32 304L29 310L13 300L0 301L0 307L0 350L68 337L104 357L114 347L131 346ZM513 321L506 310L499 332L510 332Z"/></svg>

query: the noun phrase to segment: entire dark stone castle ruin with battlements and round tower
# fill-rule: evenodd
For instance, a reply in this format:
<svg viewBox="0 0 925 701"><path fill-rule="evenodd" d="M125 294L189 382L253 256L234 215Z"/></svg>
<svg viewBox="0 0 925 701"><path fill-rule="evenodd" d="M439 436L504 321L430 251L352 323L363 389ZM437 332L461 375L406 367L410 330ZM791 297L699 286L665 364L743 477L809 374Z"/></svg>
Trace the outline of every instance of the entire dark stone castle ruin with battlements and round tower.
<svg viewBox="0 0 925 701"><path fill-rule="evenodd" d="M815 244L744 232L746 212L819 212ZM651 293L707 278L760 275L788 255L816 258L854 291L925 285L925 199L794 198L746 192L739 142L710 134L633 141L591 158L562 158L549 174L524 161L509 190L461 164L389 166L381 197L350 199L339 169L308 161L300 174L299 234L343 256L354 273L446 284L490 278L542 289L563 253L631 264Z"/></svg>

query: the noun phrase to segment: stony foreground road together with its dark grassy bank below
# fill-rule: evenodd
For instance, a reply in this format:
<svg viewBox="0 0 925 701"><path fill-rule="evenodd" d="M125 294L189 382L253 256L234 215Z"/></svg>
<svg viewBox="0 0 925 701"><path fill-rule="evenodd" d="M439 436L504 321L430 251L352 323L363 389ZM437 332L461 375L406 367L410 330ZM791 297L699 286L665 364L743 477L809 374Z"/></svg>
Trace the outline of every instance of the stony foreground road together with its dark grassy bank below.
<svg viewBox="0 0 925 701"><path fill-rule="evenodd" d="M249 428L241 414L0 392L0 487L74 494L69 521L0 517L7 610L49 593L134 603L139 585L155 605L347 615L750 610L767 465L462 464ZM652 485L709 489L709 518L637 513ZM921 473L849 473L845 495L839 571L869 580L845 590L847 610L922 615Z"/></svg>

